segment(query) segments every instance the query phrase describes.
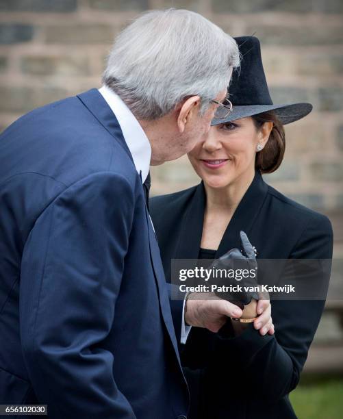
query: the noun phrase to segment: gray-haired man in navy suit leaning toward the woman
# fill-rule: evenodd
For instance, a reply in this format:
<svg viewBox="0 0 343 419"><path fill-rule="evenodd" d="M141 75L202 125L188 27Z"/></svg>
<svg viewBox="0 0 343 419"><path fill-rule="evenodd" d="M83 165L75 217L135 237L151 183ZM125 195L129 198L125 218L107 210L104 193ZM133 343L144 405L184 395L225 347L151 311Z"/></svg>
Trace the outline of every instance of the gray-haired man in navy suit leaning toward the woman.
<svg viewBox="0 0 343 419"><path fill-rule="evenodd" d="M3 132L0 403L60 419L186 417L183 305L175 335L143 183L149 164L207 135L237 65L236 42L199 14L148 12L116 38L100 90ZM188 323L242 314L210 304Z"/></svg>

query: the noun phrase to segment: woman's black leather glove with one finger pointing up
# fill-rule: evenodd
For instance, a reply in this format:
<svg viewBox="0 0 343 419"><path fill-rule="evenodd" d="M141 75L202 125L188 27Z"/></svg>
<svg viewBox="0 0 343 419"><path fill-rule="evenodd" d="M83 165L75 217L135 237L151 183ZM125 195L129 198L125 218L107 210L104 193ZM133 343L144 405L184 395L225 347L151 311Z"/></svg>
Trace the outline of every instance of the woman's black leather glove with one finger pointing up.
<svg viewBox="0 0 343 419"><path fill-rule="evenodd" d="M255 257L255 251L251 242L249 242L248 237L244 231L240 232L240 242L242 244L242 252L240 249L231 249L225 255L216 259L210 268L215 270L225 269L231 270L234 269L236 272L238 270L248 270L249 275L240 280L232 278L218 278L216 277L213 280L217 285L218 289L214 290L215 294L221 299L225 299L230 303L238 305L241 309L244 308L244 305L248 305L252 299L259 299L259 292L256 290L258 286L257 283L257 262ZM251 272L255 272L255 278L251 275ZM240 285L242 291L240 292L225 292L223 291L223 286L228 285ZM245 290L244 287L253 287L253 290Z"/></svg>

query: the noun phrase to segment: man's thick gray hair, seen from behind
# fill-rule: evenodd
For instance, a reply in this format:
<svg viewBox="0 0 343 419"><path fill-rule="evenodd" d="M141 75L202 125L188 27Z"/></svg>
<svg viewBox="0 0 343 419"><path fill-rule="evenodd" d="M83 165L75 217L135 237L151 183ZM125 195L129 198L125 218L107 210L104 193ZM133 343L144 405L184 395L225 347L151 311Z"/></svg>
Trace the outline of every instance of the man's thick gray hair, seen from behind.
<svg viewBox="0 0 343 419"><path fill-rule="evenodd" d="M194 95L204 113L239 61L236 41L201 14L153 10L118 35L103 83L138 119L160 118Z"/></svg>

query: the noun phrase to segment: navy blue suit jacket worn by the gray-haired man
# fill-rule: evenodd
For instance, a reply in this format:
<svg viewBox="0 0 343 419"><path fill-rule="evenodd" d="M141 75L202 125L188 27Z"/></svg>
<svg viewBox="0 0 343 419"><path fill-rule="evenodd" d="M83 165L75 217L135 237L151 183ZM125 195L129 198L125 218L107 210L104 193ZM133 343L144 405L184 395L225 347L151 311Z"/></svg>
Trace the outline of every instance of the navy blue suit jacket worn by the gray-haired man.
<svg viewBox="0 0 343 419"><path fill-rule="evenodd" d="M61 419L184 418L160 252L101 94L6 129L0 185L0 403L47 404Z"/></svg>

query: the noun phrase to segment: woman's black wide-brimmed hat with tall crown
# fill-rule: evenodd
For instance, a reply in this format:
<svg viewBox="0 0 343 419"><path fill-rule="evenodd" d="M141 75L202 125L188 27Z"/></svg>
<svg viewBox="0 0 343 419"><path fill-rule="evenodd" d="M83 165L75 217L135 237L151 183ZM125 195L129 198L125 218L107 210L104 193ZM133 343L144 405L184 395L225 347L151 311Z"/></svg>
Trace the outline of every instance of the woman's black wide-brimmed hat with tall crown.
<svg viewBox="0 0 343 419"><path fill-rule="evenodd" d="M294 122L312 111L311 103L274 105L269 94L261 57L259 40L255 36L234 38L240 49L240 67L233 71L229 86L229 99L233 110L226 118L213 119L211 125L227 123L274 111L283 125Z"/></svg>

